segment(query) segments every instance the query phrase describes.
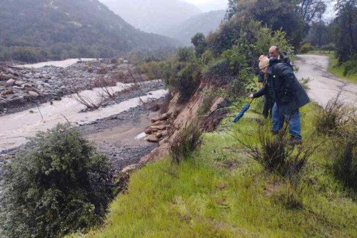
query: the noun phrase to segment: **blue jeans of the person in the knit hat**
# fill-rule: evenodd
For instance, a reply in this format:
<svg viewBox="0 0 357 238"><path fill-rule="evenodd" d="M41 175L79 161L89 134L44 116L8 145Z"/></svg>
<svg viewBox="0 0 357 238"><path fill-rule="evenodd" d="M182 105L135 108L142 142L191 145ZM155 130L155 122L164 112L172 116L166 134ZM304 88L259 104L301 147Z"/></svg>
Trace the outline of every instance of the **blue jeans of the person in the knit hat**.
<svg viewBox="0 0 357 238"><path fill-rule="evenodd" d="M272 110L272 121L274 132L279 131L284 126L284 121L289 123L289 134L295 138L302 139L301 136L301 123L300 123L300 112L299 109L292 111L290 114L279 116L279 110L277 109L276 103L273 106Z"/></svg>

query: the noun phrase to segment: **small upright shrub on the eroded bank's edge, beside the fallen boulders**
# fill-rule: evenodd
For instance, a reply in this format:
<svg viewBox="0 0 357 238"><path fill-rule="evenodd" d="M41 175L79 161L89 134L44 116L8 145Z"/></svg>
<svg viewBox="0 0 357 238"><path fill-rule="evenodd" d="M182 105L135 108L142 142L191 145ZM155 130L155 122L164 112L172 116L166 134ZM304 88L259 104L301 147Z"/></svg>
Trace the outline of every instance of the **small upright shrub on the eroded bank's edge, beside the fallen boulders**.
<svg viewBox="0 0 357 238"><path fill-rule="evenodd" d="M202 130L199 123L194 121L183 128L173 139L170 145L172 163L180 164L191 155L194 149L201 144Z"/></svg>

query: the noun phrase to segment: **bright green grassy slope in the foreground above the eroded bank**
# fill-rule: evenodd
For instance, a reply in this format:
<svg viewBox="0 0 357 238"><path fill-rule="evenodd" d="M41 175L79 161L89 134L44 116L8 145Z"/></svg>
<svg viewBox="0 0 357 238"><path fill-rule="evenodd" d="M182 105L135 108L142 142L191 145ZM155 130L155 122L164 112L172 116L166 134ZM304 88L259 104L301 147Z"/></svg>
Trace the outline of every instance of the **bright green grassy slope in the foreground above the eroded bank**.
<svg viewBox="0 0 357 238"><path fill-rule="evenodd" d="M357 237L357 204L327 170L328 145L312 156L299 189L247 158L230 134L256 131L254 107L238 124L229 118L221 132L205 134L182 165L167 158L134 172L103 228L84 237ZM302 110L305 143L323 139L310 135L315 107ZM288 194L303 206L288 208Z"/></svg>

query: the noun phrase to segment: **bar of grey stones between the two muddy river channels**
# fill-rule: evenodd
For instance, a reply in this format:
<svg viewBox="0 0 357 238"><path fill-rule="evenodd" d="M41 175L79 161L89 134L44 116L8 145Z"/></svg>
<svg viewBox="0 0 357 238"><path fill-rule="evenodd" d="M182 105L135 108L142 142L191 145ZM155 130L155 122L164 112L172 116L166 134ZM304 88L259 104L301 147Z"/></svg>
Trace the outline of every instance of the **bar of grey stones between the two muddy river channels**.
<svg viewBox="0 0 357 238"><path fill-rule="evenodd" d="M61 100L67 94L97 87L100 80L126 80L132 65L109 60L77 62L69 67L25 68L0 66L0 115L23 111L36 105ZM121 74L118 74L121 70Z"/></svg>

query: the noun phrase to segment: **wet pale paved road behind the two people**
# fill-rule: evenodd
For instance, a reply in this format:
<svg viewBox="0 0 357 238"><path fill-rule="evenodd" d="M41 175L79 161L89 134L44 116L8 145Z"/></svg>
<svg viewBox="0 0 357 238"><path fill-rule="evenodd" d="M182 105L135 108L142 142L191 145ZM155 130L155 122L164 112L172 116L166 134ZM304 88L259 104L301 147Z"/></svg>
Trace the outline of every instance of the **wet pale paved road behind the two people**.
<svg viewBox="0 0 357 238"><path fill-rule="evenodd" d="M320 55L297 55L294 65L299 67L296 77L311 79L308 91L310 98L320 105L327 102L341 91L341 100L357 106L357 84L349 83L328 72L329 57Z"/></svg>

